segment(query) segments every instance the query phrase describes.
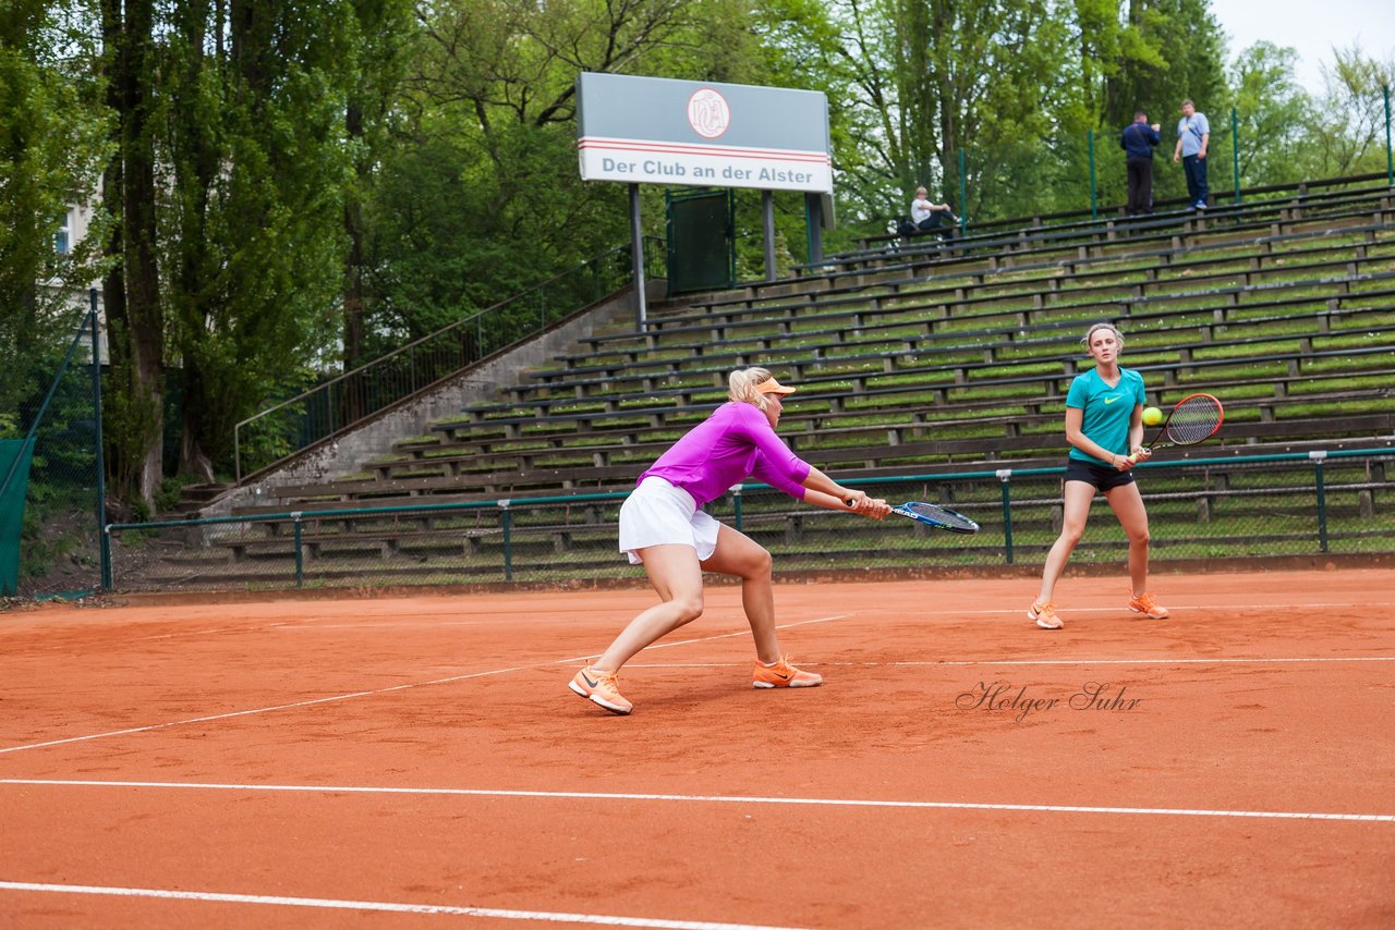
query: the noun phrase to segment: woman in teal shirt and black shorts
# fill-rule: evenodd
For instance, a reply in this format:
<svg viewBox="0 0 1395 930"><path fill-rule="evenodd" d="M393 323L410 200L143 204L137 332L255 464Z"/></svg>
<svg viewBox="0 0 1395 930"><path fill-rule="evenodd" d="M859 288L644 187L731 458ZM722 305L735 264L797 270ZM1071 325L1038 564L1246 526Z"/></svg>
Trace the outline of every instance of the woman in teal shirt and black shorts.
<svg viewBox="0 0 1395 930"><path fill-rule="evenodd" d="M1148 594L1148 512L1133 477L1136 462L1152 455L1143 448L1143 375L1119 367L1124 337L1112 325L1095 323L1081 342L1095 367L1077 375L1066 395L1070 459L1066 466L1064 520L1060 537L1046 555L1042 590L1027 611L1027 618L1046 630L1062 627L1056 615L1056 580L1085 531L1085 519L1096 494L1105 495L1129 535L1129 577L1133 581L1129 608L1159 620L1168 616L1166 608Z"/></svg>

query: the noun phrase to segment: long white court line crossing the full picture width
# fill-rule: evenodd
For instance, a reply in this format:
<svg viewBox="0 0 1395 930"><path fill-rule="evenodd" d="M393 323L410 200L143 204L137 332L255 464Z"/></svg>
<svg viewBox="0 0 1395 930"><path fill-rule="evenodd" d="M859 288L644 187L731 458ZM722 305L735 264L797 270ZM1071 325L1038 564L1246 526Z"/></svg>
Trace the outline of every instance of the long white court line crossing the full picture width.
<svg viewBox="0 0 1395 930"><path fill-rule="evenodd" d="M448 795L465 798L548 798L569 800L671 800L714 805L804 805L822 807L893 807L900 810L1007 810L1057 814L1141 814L1158 817L1257 817L1261 820L1355 820L1395 823L1395 814L1324 814L1285 810L1207 810L1183 807L1085 807L1077 805L996 805L954 800L870 800L857 798L745 798L741 795L642 795L590 791L495 791L485 788L385 788L364 785L223 785L177 781L82 781L67 778L0 778L0 785L66 788L170 788L194 791L265 791L318 795Z"/></svg>

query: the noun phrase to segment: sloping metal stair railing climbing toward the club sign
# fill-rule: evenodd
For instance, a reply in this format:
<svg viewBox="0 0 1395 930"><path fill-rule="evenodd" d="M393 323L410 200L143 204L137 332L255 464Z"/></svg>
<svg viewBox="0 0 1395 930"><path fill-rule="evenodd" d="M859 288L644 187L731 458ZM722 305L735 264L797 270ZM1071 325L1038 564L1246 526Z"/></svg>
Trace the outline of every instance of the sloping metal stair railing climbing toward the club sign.
<svg viewBox="0 0 1395 930"><path fill-rule="evenodd" d="M661 277L661 240L646 240L644 259L646 277ZM629 286L632 279L631 247L619 245L243 420L233 429L237 482L343 434L462 368L533 339Z"/></svg>

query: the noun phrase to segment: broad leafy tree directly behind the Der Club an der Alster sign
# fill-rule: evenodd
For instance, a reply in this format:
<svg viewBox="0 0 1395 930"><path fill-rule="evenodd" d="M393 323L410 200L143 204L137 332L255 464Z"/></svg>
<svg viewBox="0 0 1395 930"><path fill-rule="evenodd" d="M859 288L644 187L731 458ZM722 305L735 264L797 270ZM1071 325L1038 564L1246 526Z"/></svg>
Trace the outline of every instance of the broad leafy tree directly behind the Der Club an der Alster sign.
<svg viewBox="0 0 1395 930"><path fill-rule="evenodd" d="M364 208L365 342L378 349L626 241L624 185L576 170L579 73L760 73L732 0L456 1L424 7L421 29ZM653 215L657 191L644 199Z"/></svg>

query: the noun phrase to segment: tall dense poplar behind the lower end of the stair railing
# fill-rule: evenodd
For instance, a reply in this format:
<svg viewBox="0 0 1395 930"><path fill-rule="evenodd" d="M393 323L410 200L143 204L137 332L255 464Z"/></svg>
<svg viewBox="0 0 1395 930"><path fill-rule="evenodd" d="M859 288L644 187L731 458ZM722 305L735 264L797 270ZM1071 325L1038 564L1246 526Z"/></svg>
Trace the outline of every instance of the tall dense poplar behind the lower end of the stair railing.
<svg viewBox="0 0 1395 930"><path fill-rule="evenodd" d="M180 471L227 462L234 424L296 383L338 329L345 113L361 33L349 0L170 7L162 244L183 381Z"/></svg>

